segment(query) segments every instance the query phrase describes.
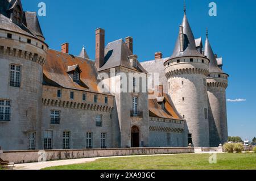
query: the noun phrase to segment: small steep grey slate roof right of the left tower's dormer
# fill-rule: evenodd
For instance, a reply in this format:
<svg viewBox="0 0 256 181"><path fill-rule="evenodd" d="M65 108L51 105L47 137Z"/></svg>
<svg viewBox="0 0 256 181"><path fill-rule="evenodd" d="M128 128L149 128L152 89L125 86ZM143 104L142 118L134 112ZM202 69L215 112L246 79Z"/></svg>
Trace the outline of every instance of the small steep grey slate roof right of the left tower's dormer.
<svg viewBox="0 0 256 181"><path fill-rule="evenodd" d="M27 27L30 28L30 30L32 30L36 36L44 37L36 12L25 12L25 16Z"/></svg>

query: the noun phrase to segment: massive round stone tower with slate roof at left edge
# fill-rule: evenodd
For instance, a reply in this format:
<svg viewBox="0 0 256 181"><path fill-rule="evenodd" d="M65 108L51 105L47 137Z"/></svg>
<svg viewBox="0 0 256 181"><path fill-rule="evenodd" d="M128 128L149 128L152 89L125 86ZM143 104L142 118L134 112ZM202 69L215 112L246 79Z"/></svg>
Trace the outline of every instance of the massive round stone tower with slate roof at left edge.
<svg viewBox="0 0 256 181"><path fill-rule="evenodd" d="M47 44L35 12L20 1L0 11L0 146L39 149L43 64Z"/></svg>

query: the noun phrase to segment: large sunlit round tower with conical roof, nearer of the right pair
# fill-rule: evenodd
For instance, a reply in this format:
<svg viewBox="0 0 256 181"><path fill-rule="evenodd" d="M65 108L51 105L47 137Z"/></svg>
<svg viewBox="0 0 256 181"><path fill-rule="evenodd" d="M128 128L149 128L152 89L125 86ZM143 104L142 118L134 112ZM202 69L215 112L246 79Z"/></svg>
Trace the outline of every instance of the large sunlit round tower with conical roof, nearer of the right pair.
<svg viewBox="0 0 256 181"><path fill-rule="evenodd" d="M196 49L184 14L172 56L164 62L170 94L177 111L187 121L188 144L209 146L207 75L209 60Z"/></svg>

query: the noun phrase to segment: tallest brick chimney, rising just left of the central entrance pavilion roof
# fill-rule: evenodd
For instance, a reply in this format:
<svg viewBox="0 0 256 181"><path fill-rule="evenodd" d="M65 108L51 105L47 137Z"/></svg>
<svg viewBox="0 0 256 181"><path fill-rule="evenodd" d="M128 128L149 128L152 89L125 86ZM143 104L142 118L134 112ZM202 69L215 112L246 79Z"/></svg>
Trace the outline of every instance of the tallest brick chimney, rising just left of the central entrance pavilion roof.
<svg viewBox="0 0 256 181"><path fill-rule="evenodd" d="M96 68L100 69L104 65L105 57L105 30L102 28L96 29L96 52L95 52L95 62Z"/></svg>

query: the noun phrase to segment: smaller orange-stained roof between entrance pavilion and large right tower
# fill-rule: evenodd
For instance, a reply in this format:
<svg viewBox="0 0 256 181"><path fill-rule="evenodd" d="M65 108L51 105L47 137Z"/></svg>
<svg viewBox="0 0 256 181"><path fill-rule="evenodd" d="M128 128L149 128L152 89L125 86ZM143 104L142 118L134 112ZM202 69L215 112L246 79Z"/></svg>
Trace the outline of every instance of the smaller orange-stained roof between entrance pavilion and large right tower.
<svg viewBox="0 0 256 181"><path fill-rule="evenodd" d="M159 104L159 101L163 102L163 100L164 110L162 109L162 106ZM163 96L159 98L148 99L148 111L149 115L152 117L184 120L176 111L176 108L174 107L174 104L172 103L171 98L168 94L163 94Z"/></svg>

